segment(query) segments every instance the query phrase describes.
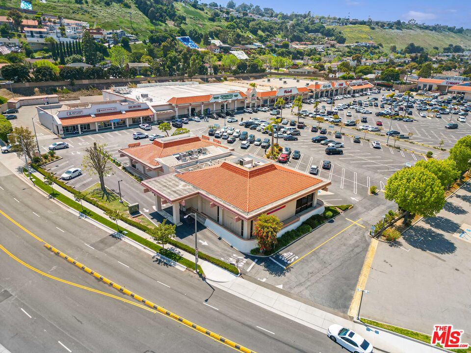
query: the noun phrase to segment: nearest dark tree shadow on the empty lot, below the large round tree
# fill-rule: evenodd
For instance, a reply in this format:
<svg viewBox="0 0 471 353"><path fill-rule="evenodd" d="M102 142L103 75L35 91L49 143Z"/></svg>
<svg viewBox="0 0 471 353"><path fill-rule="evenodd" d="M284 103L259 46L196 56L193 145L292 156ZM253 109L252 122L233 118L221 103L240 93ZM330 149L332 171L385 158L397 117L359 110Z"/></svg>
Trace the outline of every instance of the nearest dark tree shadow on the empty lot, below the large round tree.
<svg viewBox="0 0 471 353"><path fill-rule="evenodd" d="M414 226L402 234L402 239L411 247L426 252L450 254L456 251L453 242L446 239L443 234L426 227Z"/></svg>

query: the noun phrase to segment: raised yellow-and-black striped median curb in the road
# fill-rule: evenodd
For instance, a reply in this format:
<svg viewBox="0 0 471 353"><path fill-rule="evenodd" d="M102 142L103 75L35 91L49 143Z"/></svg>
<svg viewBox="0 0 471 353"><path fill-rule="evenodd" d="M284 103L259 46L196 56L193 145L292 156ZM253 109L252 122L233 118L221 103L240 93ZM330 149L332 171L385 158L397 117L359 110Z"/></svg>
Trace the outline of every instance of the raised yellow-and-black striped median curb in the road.
<svg viewBox="0 0 471 353"><path fill-rule="evenodd" d="M67 260L68 262L74 264L75 266L77 266L78 268L80 268L81 270L85 271L86 273L88 273L89 275L92 275L93 277L95 278L98 278L99 280L101 280L102 282L106 283L107 285L113 287L114 289L118 290L119 292L123 293L123 294L126 294L128 296L130 296L131 298L135 299L136 301L138 302L141 302L141 303L144 303L146 304L147 306L157 310L159 313L165 315L165 316L168 316L170 317L171 319L175 320L175 321L178 321L182 324L184 324L185 326L189 327L189 328L193 328L197 331L199 331L200 333L204 334L204 335L207 335L209 337L211 337L212 339L214 340L217 340L229 347L232 347L234 348L235 350L237 351L240 351L240 352L243 352L243 353L255 353L254 351L248 349L248 348L245 348L241 345L238 345L236 344L235 342L231 341L231 340L228 340L227 338L224 338L223 336L220 336L212 331L209 331L207 330L206 328L203 328L201 326L198 326L196 324L193 324L191 321L188 321L186 319L184 319L183 317L177 315L177 314L174 314L172 313L171 311L168 311L166 310L165 308L161 307L161 306L158 306L140 296L138 296L137 294L131 292L130 290L120 286L119 284L116 284L112 281L110 281L108 278L106 277L103 277L101 276L100 274L94 272L93 270L89 269L88 267L86 267L85 265L77 262L76 260L74 260L73 258L67 256L66 254L64 254L63 252L60 252L58 251L57 249L53 248L51 245L49 244L44 244L44 247L46 247L47 249L49 249L51 252L55 253L56 255L64 258L65 260Z"/></svg>

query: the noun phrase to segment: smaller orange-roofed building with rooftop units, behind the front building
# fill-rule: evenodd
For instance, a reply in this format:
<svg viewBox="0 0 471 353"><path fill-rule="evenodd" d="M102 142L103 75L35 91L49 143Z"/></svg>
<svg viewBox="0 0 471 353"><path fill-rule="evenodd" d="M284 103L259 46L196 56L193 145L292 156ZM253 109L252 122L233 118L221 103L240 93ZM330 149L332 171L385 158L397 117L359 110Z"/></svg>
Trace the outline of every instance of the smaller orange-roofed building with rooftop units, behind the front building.
<svg viewBox="0 0 471 353"><path fill-rule="evenodd" d="M209 141L208 136L199 137L188 133L159 138L145 145L132 143L118 150L118 153L121 157L128 157L135 174L147 179L231 156L234 149L218 142Z"/></svg>

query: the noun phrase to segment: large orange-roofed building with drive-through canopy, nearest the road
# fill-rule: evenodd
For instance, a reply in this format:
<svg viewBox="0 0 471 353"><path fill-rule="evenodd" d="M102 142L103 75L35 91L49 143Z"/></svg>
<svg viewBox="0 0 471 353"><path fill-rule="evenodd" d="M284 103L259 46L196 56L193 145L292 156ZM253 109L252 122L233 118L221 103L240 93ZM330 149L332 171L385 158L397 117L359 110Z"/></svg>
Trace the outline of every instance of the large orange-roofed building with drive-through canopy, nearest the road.
<svg viewBox="0 0 471 353"><path fill-rule="evenodd" d="M163 214L162 208L171 205L173 216L166 218L176 225L180 211L196 212L206 227L240 252L257 246L253 230L263 213L283 222L278 236L323 213L317 192L327 191L330 184L250 154L142 182L144 192L155 195L157 212Z"/></svg>

